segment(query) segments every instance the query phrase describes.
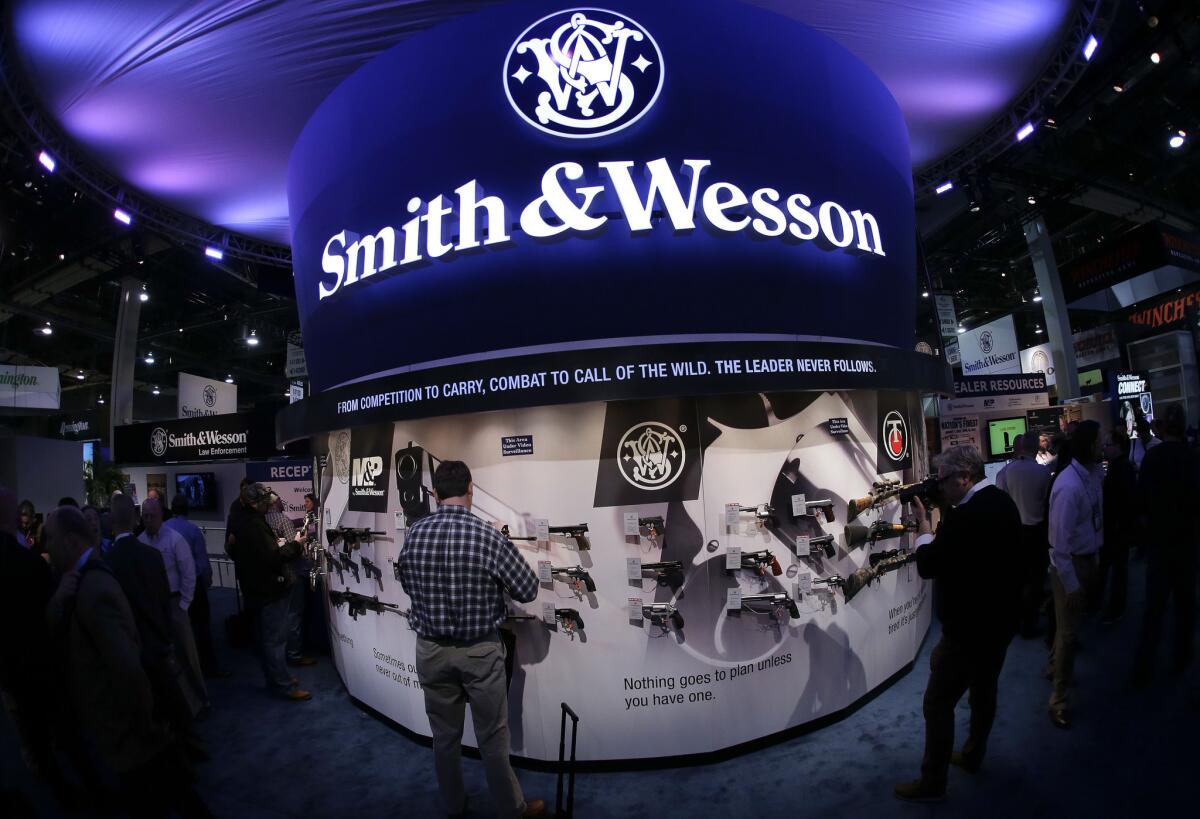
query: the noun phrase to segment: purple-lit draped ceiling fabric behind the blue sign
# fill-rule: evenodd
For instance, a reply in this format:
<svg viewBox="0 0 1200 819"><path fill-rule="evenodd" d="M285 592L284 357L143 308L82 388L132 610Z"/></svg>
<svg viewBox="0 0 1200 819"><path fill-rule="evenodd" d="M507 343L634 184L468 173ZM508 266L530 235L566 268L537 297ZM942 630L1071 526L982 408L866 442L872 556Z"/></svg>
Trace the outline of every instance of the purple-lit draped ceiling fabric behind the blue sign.
<svg viewBox="0 0 1200 819"><path fill-rule="evenodd" d="M1033 82L1073 11L1069 0L746 1L864 60L905 113L914 167ZM11 13L34 91L103 167L210 223L287 244L288 155L312 110L378 53L490 5L13 0ZM406 82L421 78L397 78L396 94Z"/></svg>

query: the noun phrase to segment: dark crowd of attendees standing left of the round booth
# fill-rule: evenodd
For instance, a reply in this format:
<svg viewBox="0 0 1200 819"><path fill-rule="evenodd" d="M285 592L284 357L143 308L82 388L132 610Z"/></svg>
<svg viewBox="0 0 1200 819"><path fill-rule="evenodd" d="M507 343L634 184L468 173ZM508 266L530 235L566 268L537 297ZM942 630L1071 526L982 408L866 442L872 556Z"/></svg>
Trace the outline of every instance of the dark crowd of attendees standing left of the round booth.
<svg viewBox="0 0 1200 819"><path fill-rule="evenodd" d="M268 688L289 701L311 695L288 665L317 662L301 651L305 585L292 568L314 534L242 482L224 550L251 622L228 626L253 629ZM209 759L196 731L212 710L206 680L229 676L210 632L211 586L182 495L169 510L156 489L140 507L115 492L103 510L64 497L43 520L0 486L0 694L26 767L60 807L211 815L193 788Z"/></svg>

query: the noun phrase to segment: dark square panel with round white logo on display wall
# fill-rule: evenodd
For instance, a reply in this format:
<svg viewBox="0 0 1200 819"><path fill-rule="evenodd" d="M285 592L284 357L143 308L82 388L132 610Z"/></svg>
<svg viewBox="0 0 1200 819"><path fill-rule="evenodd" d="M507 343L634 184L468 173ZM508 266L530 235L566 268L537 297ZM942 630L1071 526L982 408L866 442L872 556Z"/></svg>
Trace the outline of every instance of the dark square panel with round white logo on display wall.
<svg viewBox="0 0 1200 819"><path fill-rule="evenodd" d="M594 506L695 501L701 477L696 418L691 399L608 403Z"/></svg>

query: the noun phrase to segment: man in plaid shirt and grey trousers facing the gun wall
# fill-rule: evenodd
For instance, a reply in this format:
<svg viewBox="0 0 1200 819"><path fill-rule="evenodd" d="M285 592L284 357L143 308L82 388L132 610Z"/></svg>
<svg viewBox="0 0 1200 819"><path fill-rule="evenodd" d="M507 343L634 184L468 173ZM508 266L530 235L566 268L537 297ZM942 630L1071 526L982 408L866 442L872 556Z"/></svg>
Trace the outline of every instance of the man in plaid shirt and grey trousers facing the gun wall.
<svg viewBox="0 0 1200 819"><path fill-rule="evenodd" d="M413 600L416 676L442 797L451 815L466 812L462 725L469 700L497 814L544 815L545 802L526 802L509 764L505 651L497 630L506 614L504 592L529 603L538 597L538 575L506 537L470 514L474 484L466 464L443 461L433 491L437 513L413 524L404 537L400 582Z"/></svg>

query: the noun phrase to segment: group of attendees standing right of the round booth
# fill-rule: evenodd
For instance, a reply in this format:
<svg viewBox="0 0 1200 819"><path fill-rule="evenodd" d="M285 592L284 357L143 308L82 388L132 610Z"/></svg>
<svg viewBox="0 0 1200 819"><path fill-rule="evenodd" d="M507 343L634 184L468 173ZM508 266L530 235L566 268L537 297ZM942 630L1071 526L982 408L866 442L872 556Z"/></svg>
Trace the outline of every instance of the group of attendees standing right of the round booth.
<svg viewBox="0 0 1200 819"><path fill-rule="evenodd" d="M974 447L952 447L938 456L936 534L919 498L914 507L918 572L941 581L935 599L942 638L930 656L920 777L898 784L898 797L937 801L950 765L979 771L1000 672L1018 634L1045 639L1048 715L1055 727L1070 728L1072 689L1087 685L1074 674L1080 624L1092 615L1106 626L1124 616L1130 552L1145 560L1145 609L1132 662L1116 672L1130 689L1151 683L1169 605L1175 610L1170 674L1190 666L1200 455L1178 405L1154 428L1139 418L1132 442L1121 428L1102 435L1094 420L1068 424L1054 438L1021 435L995 483ZM1014 560L996 561L997 554ZM954 709L967 692L970 728L954 752Z"/></svg>

